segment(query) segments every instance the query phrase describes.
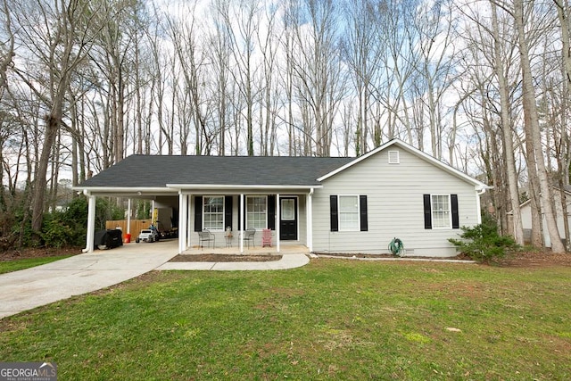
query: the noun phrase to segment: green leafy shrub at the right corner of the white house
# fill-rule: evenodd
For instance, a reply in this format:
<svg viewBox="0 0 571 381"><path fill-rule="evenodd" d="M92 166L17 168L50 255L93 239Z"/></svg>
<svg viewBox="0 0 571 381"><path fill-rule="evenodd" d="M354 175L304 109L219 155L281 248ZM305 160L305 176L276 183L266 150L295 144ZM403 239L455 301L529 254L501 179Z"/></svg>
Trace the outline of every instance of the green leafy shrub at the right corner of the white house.
<svg viewBox="0 0 571 381"><path fill-rule="evenodd" d="M500 236L495 221L487 216L480 225L461 229L461 239L449 238L448 241L473 261L489 263L505 257L519 247L513 237Z"/></svg>

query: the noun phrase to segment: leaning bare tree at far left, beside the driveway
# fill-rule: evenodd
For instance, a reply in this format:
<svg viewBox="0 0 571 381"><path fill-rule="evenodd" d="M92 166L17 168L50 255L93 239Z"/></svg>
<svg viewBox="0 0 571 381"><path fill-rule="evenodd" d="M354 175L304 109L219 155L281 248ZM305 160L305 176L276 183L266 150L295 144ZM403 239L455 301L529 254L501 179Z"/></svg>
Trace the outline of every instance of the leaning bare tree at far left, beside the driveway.
<svg viewBox="0 0 571 381"><path fill-rule="evenodd" d="M32 230L42 228L47 171L54 144L62 126L66 109L66 92L79 64L86 58L93 42L92 16L97 13L83 0L43 0L13 4L18 21L19 42L39 59L41 69L32 77L30 72L18 71L21 80L45 103L46 127L41 153L35 172L31 198ZM37 22L41 28L37 28ZM41 75L45 70L47 78Z"/></svg>

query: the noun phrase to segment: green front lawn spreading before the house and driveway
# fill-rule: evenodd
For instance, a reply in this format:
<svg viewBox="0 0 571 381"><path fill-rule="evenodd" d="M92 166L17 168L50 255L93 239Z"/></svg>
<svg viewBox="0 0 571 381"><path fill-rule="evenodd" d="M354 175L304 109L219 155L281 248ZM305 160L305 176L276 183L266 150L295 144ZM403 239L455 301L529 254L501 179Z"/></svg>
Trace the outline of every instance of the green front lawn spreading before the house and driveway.
<svg viewBox="0 0 571 381"><path fill-rule="evenodd" d="M564 380L570 278L322 259L155 271L0 320L0 359L54 361L60 380Z"/></svg>

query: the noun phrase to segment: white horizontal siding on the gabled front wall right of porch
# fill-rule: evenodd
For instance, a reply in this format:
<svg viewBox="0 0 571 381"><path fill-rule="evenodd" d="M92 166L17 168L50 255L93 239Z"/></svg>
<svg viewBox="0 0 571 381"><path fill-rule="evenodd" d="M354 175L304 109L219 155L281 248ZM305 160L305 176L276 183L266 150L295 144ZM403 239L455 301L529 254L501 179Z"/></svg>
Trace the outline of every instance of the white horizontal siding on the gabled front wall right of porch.
<svg viewBox="0 0 571 381"><path fill-rule="evenodd" d="M313 250L323 253L388 253L394 237L408 255L453 256L448 241L459 232L425 228L423 195L458 195L459 225L475 226L479 209L474 185L399 150L399 165L382 151L327 178L313 195ZM331 231L331 195L367 195L368 231ZM450 222L449 222L450 223Z"/></svg>

